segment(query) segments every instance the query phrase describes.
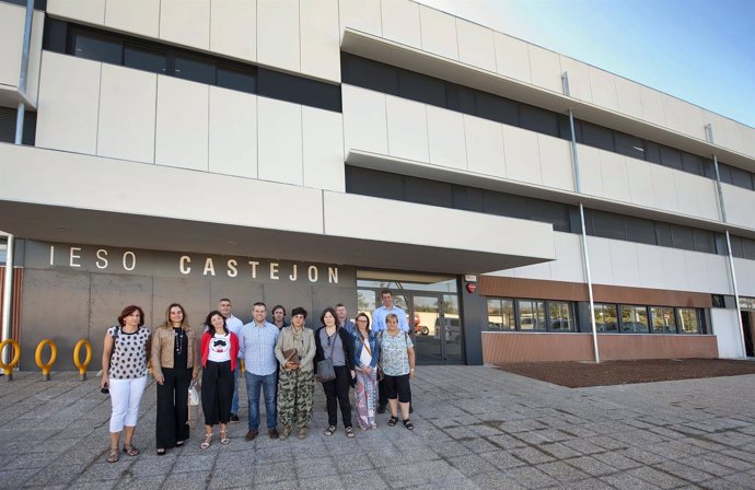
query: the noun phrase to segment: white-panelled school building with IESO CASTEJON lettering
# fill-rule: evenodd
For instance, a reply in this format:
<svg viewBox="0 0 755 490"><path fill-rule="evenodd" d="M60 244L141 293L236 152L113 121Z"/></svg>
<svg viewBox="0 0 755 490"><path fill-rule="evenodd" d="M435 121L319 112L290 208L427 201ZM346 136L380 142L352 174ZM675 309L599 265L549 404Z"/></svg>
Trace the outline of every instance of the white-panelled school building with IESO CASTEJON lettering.
<svg viewBox="0 0 755 490"><path fill-rule="evenodd" d="M20 3L22 369L44 338L98 359L127 304L316 326L384 288L421 362L753 355L751 127L410 0L37 1L27 71Z"/></svg>

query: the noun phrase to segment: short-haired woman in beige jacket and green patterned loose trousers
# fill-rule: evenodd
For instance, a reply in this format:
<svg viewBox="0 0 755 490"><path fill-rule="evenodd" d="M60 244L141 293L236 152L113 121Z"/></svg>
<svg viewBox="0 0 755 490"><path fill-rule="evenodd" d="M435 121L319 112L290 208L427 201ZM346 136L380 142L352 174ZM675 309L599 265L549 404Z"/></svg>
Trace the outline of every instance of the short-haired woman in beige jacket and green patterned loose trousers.
<svg viewBox="0 0 755 490"><path fill-rule="evenodd" d="M280 363L278 375L278 418L283 424L280 439L299 427L299 439L306 438L312 419L314 397L315 341L312 329L304 326L306 310L298 306L291 311L291 326L280 330L276 343L276 358Z"/></svg>

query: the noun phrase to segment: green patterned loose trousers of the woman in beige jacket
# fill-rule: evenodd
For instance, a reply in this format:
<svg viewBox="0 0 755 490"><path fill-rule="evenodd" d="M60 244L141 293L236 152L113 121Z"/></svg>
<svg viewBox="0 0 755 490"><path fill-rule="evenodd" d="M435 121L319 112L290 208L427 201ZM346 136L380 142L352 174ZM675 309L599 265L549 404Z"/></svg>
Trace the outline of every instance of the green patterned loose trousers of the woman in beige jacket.
<svg viewBox="0 0 755 490"><path fill-rule="evenodd" d="M278 375L278 419L288 427L304 428L312 420L314 371L280 370Z"/></svg>

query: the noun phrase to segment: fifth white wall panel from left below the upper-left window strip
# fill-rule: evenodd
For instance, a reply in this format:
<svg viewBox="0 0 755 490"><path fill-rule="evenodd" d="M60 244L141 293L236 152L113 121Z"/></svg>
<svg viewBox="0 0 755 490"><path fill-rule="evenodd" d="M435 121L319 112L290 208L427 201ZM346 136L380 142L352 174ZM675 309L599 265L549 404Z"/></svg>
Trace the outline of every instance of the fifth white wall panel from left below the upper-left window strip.
<svg viewBox="0 0 755 490"><path fill-rule="evenodd" d="M264 180L302 185L302 106L257 98L258 175Z"/></svg>

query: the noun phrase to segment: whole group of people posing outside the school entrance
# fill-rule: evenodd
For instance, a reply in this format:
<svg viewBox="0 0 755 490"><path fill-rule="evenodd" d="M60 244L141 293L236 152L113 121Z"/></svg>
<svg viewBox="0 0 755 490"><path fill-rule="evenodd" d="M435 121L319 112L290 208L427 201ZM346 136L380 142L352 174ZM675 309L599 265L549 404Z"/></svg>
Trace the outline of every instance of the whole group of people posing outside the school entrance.
<svg viewBox="0 0 755 490"><path fill-rule="evenodd" d="M188 392L201 371L201 407L208 448L219 425L219 442L230 444L228 424L239 421L239 374L244 361L248 398L246 441L259 434L260 392L265 400L267 432L270 439L287 439L294 428L304 439L312 419L317 366L326 398L328 427L325 435L338 430L338 408L348 438L355 436L351 421L350 389L353 387L360 429L378 427L375 415L390 407L387 424L400 420L414 430L409 418L415 374L415 353L403 310L393 304L391 291L381 292L383 305L370 317L365 313L348 318L346 306L325 308L316 330L305 327L306 310L291 311L276 305L272 322L267 320L265 303L253 305L252 322L244 324L232 313L232 303L222 299L210 312L199 339L178 303L165 311L165 320L151 332L144 327L144 312L137 305L124 308L118 325L108 328L103 349L101 386L109 392L109 463L123 452L136 456L133 445L139 404L147 386L148 359L156 383L155 445L158 455L183 446L189 439ZM333 368L332 372L329 368ZM201 368L201 370L200 370ZM324 376L330 372L335 376ZM400 413L399 413L400 412ZM278 432L278 419L282 425Z"/></svg>

